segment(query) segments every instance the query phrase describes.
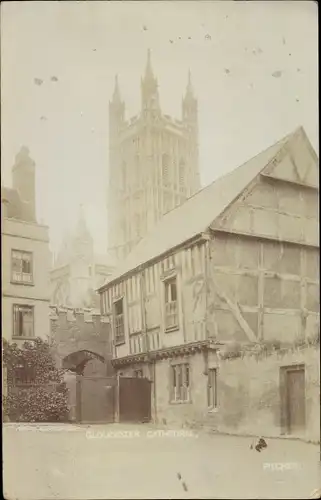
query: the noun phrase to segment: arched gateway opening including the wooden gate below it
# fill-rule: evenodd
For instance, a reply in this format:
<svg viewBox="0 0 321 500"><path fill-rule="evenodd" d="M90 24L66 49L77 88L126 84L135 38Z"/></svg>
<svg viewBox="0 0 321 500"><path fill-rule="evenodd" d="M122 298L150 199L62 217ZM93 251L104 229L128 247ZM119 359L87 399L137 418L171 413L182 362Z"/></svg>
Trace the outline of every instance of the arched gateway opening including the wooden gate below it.
<svg viewBox="0 0 321 500"><path fill-rule="evenodd" d="M106 360L88 350L73 352L62 360L67 370L71 418L79 423L114 421L115 379L107 377Z"/></svg>

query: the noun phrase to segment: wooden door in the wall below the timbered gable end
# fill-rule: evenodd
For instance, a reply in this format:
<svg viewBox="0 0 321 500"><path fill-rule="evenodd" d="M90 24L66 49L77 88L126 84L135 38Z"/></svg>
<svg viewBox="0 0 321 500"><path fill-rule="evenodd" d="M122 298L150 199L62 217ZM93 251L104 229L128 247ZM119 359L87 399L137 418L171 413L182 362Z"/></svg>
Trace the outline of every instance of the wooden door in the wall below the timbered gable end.
<svg viewBox="0 0 321 500"><path fill-rule="evenodd" d="M304 365L288 366L283 371L283 427L288 434L305 429L305 370Z"/></svg>

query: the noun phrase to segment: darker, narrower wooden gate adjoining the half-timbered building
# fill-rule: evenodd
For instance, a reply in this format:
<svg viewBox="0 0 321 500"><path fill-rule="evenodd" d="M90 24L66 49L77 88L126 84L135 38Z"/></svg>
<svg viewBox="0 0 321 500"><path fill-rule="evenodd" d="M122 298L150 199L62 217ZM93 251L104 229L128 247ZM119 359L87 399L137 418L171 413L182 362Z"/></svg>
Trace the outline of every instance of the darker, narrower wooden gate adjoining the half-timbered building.
<svg viewBox="0 0 321 500"><path fill-rule="evenodd" d="M150 422L151 381L147 378L119 378L119 421Z"/></svg>

